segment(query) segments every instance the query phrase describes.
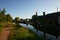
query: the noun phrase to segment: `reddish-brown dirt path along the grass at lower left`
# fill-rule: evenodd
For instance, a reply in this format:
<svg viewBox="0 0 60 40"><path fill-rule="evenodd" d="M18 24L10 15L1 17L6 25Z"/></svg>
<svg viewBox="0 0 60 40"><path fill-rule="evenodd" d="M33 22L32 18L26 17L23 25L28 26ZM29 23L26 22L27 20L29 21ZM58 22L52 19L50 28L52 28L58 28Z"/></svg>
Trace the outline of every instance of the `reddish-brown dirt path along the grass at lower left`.
<svg viewBox="0 0 60 40"><path fill-rule="evenodd" d="M12 27L6 27L2 29L2 32L0 33L0 40L8 40L8 36L11 32Z"/></svg>

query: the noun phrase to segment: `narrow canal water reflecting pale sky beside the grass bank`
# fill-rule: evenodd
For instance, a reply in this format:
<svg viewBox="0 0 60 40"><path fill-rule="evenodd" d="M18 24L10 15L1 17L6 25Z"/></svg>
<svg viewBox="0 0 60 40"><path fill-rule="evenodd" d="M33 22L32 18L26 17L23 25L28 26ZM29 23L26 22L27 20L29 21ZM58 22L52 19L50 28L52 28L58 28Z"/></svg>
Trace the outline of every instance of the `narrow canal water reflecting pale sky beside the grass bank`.
<svg viewBox="0 0 60 40"><path fill-rule="evenodd" d="M23 27L25 27L25 28L31 29L35 34L37 34L37 36L43 37L44 32L39 31L39 30L37 31L32 25L28 24L28 26L27 26L26 24L22 24L22 23L20 25L23 26ZM59 36L58 39L56 39L55 36L50 35L48 33L46 33L46 37L45 38L47 38L48 40L60 40L60 36Z"/></svg>

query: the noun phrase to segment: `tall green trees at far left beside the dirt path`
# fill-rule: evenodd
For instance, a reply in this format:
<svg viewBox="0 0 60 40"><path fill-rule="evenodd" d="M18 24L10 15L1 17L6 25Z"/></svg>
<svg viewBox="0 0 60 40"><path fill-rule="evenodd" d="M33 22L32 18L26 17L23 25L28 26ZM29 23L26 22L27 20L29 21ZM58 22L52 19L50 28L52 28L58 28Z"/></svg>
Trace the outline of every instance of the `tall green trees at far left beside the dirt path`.
<svg viewBox="0 0 60 40"><path fill-rule="evenodd" d="M3 10L0 10L0 22L12 22L12 17L10 14L5 14L6 10L3 8Z"/></svg>

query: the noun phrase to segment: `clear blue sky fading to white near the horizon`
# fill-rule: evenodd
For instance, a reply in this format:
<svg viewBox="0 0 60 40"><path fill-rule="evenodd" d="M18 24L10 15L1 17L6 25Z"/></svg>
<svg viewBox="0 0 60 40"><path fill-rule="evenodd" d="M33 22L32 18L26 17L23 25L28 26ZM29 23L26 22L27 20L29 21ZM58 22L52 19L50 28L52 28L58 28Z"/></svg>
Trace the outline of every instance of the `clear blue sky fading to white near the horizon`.
<svg viewBox="0 0 60 40"><path fill-rule="evenodd" d="M5 8L13 18L31 18L36 12L53 13L60 10L60 0L0 0L0 9Z"/></svg>

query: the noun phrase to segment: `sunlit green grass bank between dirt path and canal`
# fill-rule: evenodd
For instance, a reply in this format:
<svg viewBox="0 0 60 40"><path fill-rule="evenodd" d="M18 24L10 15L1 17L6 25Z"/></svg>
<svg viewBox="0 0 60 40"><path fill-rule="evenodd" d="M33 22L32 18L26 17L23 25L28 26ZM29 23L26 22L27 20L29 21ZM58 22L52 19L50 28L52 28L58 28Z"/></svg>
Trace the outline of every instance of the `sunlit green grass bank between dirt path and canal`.
<svg viewBox="0 0 60 40"><path fill-rule="evenodd" d="M32 30L22 27L21 25L14 25L9 40L46 40L39 38Z"/></svg>

